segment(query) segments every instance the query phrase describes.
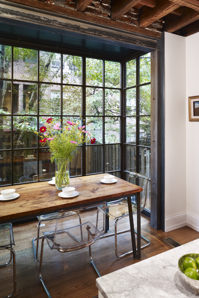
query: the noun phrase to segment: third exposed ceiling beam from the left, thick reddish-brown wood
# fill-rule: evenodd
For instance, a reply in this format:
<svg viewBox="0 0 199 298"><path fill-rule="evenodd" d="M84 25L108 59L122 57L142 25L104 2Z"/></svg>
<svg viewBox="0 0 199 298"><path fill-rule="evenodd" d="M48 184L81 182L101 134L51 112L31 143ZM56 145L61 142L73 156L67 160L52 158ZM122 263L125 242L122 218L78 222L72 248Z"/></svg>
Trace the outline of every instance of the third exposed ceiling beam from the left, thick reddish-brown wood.
<svg viewBox="0 0 199 298"><path fill-rule="evenodd" d="M156 2L156 6L154 8L144 6L143 9L141 9L139 26L145 28L148 25L159 20L160 18L164 17L166 14L171 13L179 6L180 5L174 4L173 2L168 0L159 0L158 2Z"/></svg>

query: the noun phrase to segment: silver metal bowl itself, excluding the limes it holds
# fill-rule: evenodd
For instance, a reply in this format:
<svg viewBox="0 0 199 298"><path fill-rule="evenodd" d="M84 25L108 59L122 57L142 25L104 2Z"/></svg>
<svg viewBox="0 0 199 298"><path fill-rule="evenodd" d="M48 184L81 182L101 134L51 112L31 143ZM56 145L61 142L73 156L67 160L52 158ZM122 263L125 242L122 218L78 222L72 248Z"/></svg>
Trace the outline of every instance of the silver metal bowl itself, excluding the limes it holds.
<svg viewBox="0 0 199 298"><path fill-rule="evenodd" d="M193 278L186 276L185 270L183 268L183 262L184 262L185 258L188 256L190 256L191 258L193 258L195 260L195 259L197 259L197 257L199 257L199 253L188 253L184 256L181 256L178 259L178 271L179 271L180 276L184 279L184 281L186 281L186 283L189 284L190 287L194 290L194 294L198 295L199 294L199 280L195 280ZM197 273L199 273L198 269L197 269Z"/></svg>

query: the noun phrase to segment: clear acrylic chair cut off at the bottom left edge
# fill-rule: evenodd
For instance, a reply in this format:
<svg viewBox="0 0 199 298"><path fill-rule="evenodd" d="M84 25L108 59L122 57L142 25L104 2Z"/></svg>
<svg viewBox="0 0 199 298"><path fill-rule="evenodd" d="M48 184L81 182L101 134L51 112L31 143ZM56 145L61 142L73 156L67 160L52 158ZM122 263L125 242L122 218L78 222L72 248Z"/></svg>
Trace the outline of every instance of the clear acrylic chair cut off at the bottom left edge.
<svg viewBox="0 0 199 298"><path fill-rule="evenodd" d="M10 264L10 262L13 259L13 283L14 283L14 290L12 291L12 293L5 297L1 296L1 298L9 298L9 297L13 296L13 294L16 291L16 286L17 286L16 260L15 260L15 251L12 248L13 245L15 245L15 244L14 244L14 237L13 237L13 231L12 231L12 224L6 223L6 224L0 225L0 251L1 250L9 250L10 251L9 261L0 265L0 268L8 266L8 264ZM9 287L9 289L10 289L10 287ZM1 293L0 293L0 295L1 295Z"/></svg>

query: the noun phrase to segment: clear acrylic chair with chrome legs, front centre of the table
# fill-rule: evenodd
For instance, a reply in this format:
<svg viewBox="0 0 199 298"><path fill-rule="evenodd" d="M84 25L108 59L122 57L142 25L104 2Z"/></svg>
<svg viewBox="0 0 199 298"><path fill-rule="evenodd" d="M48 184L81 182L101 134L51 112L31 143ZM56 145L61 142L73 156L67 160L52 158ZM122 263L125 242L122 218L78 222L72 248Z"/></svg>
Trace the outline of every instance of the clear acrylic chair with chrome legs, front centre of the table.
<svg viewBox="0 0 199 298"><path fill-rule="evenodd" d="M91 244L95 242L105 231L105 210L106 202L99 204L82 207L77 210L71 210L74 214L66 215L65 211L58 212L55 229L53 231L43 232L43 239L41 244L41 254L39 262L39 279L46 291L46 294L51 298L49 291L42 279L42 259L43 259L43 247L44 240L51 250L55 249L58 252L71 252L89 247L90 261L100 277L100 273L93 262L91 255ZM96 228L98 223L98 228ZM52 268L53 270L53 268Z"/></svg>

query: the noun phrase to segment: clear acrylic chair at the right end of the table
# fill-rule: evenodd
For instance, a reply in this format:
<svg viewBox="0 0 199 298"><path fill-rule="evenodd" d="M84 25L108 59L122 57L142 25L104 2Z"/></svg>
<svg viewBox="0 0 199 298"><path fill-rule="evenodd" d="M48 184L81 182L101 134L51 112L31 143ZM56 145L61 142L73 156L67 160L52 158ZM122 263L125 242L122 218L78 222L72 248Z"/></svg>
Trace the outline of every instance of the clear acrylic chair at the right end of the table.
<svg viewBox="0 0 199 298"><path fill-rule="evenodd" d="M149 178L147 176L141 175L141 174L136 173L136 172L130 172L129 176L128 176L128 182L131 182L131 183L133 183L135 185L138 185L138 186L141 186L143 188L143 191L140 194L141 211L144 209L144 207L146 205L148 180L149 180ZM136 196L131 197L131 203L132 203L132 212L133 212L133 214L135 214L135 213L137 213L137 197ZM118 249L117 249L117 247L118 247L118 245L117 245L117 235L130 231L130 229L126 229L126 230L123 230L123 231L117 231L118 220L129 216L127 198L122 198L120 200L116 200L116 201L106 203L106 216L108 216L109 218L115 220L115 232L114 233L107 233L107 234L103 235L100 238L115 235L115 255L118 258L122 258L122 257L132 253L133 251L131 250L131 251L128 251L128 252L120 255L120 254L118 254ZM137 234L137 231L134 230L134 232ZM144 248L144 247L147 247L147 246L150 245L150 241L146 237L141 235L141 238L144 241L146 241L146 244L142 245L141 248Z"/></svg>

